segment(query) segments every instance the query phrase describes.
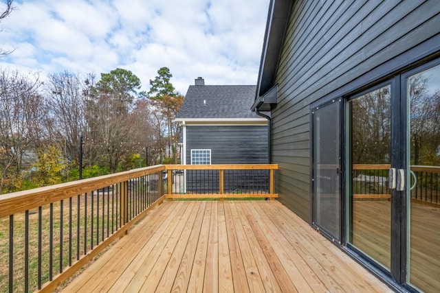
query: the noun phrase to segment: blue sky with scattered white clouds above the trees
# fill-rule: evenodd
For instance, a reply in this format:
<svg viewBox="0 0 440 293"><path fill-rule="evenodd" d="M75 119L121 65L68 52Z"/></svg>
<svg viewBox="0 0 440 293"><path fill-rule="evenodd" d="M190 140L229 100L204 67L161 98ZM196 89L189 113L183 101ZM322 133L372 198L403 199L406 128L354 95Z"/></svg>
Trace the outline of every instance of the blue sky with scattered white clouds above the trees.
<svg viewBox="0 0 440 293"><path fill-rule="evenodd" d="M0 9L4 7L0 0ZM0 70L45 76L133 71L148 90L160 67L185 94L256 84L269 0L25 0L0 22ZM3 11L3 10L2 10Z"/></svg>

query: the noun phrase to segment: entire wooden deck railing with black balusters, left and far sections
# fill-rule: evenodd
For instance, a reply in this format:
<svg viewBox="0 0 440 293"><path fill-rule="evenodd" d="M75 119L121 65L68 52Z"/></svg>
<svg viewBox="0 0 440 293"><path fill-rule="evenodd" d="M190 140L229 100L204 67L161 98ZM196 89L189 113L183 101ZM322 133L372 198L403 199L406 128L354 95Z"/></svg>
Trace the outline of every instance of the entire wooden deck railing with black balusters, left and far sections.
<svg viewBox="0 0 440 293"><path fill-rule="evenodd" d="M2 195L0 288L52 292L164 198L276 198L274 169L156 165Z"/></svg>

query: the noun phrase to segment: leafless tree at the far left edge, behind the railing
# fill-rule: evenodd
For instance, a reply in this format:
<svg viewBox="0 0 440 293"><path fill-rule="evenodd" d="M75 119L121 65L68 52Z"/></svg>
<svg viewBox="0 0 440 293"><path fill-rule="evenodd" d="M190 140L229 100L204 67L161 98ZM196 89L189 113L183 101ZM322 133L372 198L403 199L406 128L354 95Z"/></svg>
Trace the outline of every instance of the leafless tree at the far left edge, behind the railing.
<svg viewBox="0 0 440 293"><path fill-rule="evenodd" d="M30 80L17 72L0 73L0 194L5 186L14 189L19 185L23 165L32 161L47 133L40 85L38 76Z"/></svg>

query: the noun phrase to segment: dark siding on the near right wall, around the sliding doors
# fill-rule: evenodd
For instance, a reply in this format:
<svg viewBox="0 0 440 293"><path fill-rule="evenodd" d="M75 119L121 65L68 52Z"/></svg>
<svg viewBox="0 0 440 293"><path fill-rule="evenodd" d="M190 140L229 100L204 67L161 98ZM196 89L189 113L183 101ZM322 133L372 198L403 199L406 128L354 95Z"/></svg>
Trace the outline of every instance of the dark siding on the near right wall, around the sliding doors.
<svg viewBox="0 0 440 293"><path fill-rule="evenodd" d="M438 1L294 1L275 79L272 161L279 199L304 220L310 104L438 35L439 10Z"/></svg>

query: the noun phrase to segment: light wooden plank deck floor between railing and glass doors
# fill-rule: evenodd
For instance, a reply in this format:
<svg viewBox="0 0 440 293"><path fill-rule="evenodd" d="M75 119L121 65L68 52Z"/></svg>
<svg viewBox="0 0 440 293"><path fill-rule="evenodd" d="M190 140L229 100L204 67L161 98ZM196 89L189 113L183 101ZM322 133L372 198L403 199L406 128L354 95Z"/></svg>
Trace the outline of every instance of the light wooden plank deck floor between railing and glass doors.
<svg viewBox="0 0 440 293"><path fill-rule="evenodd" d="M153 209L64 292L391 292L278 201Z"/></svg>

